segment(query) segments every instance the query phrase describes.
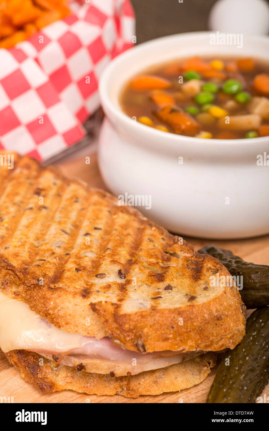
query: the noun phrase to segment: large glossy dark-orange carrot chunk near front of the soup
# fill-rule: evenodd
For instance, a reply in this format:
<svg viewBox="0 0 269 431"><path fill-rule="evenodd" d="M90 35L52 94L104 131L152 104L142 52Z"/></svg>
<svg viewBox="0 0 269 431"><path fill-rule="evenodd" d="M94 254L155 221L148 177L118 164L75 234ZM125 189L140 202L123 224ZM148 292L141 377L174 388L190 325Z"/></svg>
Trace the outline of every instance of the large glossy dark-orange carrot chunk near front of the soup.
<svg viewBox="0 0 269 431"><path fill-rule="evenodd" d="M187 112L180 112L173 106L166 106L156 112L157 117L169 124L176 133L196 134L200 130L199 123Z"/></svg>

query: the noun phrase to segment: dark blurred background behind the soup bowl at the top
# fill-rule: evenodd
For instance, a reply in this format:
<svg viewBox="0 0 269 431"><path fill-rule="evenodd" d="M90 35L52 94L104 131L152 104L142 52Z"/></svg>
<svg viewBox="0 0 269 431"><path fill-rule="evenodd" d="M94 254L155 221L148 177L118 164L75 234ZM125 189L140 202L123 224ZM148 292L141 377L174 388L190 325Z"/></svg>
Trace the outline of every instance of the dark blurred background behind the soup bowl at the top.
<svg viewBox="0 0 269 431"><path fill-rule="evenodd" d="M136 14L137 43L168 34L207 30L207 19L215 1L131 0Z"/></svg>

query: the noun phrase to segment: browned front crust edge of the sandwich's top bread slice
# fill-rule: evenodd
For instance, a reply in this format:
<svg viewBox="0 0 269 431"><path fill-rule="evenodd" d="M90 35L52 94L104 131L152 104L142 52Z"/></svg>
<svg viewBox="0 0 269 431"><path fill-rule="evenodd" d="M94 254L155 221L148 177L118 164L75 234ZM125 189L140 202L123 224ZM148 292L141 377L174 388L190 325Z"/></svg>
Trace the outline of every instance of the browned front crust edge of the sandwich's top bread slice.
<svg viewBox="0 0 269 431"><path fill-rule="evenodd" d="M238 305L234 290L224 290L206 303L174 308L173 312L150 309L118 314L117 304L91 304L112 337L124 340L127 349L138 348L141 353L143 345L147 351L176 350L178 340L184 352L233 349L244 336L244 319Z"/></svg>

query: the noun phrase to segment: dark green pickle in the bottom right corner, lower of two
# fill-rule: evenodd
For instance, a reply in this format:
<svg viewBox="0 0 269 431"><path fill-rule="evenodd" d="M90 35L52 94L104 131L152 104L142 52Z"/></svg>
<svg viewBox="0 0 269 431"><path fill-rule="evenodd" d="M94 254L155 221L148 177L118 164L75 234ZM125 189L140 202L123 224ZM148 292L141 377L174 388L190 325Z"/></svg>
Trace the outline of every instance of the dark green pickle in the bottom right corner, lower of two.
<svg viewBox="0 0 269 431"><path fill-rule="evenodd" d="M264 307L247 319L241 343L223 353L206 403L255 403L268 379L269 307Z"/></svg>

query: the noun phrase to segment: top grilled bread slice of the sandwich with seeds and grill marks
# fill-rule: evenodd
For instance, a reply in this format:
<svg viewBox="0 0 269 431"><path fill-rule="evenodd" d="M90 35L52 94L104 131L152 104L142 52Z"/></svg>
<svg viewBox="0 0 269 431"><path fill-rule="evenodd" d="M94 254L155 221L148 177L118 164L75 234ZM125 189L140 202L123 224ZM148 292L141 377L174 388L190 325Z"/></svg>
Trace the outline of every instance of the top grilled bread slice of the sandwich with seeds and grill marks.
<svg viewBox="0 0 269 431"><path fill-rule="evenodd" d="M0 167L0 287L58 328L137 352L222 350L244 305L217 259L28 157Z"/></svg>

